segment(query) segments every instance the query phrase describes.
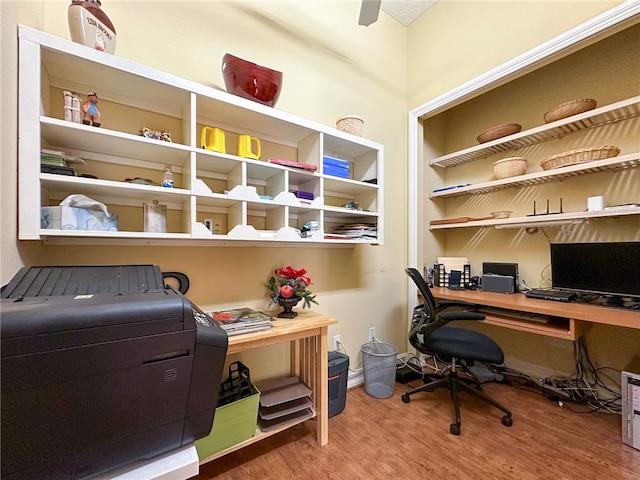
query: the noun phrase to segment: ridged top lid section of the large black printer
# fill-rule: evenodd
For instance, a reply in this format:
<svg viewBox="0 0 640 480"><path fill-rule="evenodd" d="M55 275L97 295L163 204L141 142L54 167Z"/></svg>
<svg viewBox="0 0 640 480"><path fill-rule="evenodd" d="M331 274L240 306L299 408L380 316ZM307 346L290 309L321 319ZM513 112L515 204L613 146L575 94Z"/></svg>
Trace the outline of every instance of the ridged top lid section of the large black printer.
<svg viewBox="0 0 640 480"><path fill-rule="evenodd" d="M2 358L196 330L189 300L151 265L25 267L1 298Z"/></svg>

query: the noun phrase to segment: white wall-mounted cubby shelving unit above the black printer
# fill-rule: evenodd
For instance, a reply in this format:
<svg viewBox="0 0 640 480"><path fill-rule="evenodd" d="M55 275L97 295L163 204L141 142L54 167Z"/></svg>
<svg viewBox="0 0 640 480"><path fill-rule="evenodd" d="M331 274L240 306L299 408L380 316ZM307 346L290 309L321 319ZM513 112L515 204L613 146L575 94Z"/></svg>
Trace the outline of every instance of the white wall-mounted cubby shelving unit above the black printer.
<svg viewBox="0 0 640 480"><path fill-rule="evenodd" d="M19 27L19 239L63 244L355 245L383 243L383 154L378 143L316 124L214 88L166 74L65 39ZM64 120L62 92L98 93L99 128ZM108 113L105 113L108 112ZM139 135L170 125L173 142ZM227 153L205 150L201 129L226 133ZM261 160L232 154L240 134L258 137ZM42 148L83 158L83 176L40 172ZM323 173L330 155L350 164L350 177ZM270 157L317 166L269 163ZM173 189L160 183L165 165ZM304 202L294 192L314 194ZM119 231L45 229L40 207L84 194L118 213ZM167 233L143 231L143 205L167 205ZM361 210L343 205L357 203ZM204 219L215 219L213 234ZM307 222L319 231L302 238ZM336 226L367 224L377 238L339 238ZM330 238L329 238L330 237Z"/></svg>

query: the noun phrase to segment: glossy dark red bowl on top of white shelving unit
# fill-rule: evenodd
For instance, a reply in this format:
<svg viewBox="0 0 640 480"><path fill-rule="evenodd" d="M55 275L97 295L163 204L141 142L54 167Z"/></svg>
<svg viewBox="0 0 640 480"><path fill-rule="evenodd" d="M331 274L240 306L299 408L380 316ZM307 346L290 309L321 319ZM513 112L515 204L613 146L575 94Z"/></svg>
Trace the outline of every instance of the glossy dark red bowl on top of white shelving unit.
<svg viewBox="0 0 640 480"><path fill-rule="evenodd" d="M248 62L230 53L222 57L227 92L273 107L282 86L282 72Z"/></svg>

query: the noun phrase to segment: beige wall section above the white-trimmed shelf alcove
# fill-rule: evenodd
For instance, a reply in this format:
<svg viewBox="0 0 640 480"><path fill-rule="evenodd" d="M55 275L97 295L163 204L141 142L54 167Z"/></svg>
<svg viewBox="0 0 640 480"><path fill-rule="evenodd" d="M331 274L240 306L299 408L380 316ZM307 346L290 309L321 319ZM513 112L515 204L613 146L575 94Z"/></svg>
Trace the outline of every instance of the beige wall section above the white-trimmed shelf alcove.
<svg viewBox="0 0 640 480"><path fill-rule="evenodd" d="M413 109L622 1L439 0L407 29Z"/></svg>

